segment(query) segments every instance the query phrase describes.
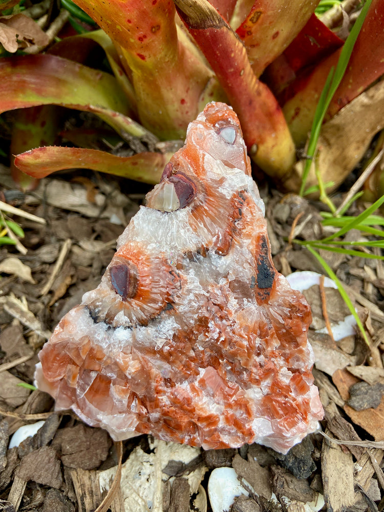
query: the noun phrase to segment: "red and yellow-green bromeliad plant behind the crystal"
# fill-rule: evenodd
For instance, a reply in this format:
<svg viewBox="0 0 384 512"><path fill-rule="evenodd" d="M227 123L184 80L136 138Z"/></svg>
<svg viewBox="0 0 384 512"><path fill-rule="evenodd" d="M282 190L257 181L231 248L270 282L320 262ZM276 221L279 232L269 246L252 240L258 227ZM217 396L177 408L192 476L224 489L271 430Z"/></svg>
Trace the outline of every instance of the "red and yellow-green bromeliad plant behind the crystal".
<svg viewBox="0 0 384 512"><path fill-rule="evenodd" d="M275 182L298 190L302 167L296 151L306 145L316 104L344 45L314 15L316 0L75 3L100 30L62 40L45 54L0 59L0 112L22 109L13 126L12 152L20 153L13 172L23 187L32 183L18 169L41 178L86 167L156 183L170 157L169 151L159 151L158 141L183 139L188 122L208 101L224 100L240 118L253 162ZM343 106L367 94L384 72L384 0L366 4L364 24L324 126L337 119ZM95 45L103 48L114 76L84 65ZM378 98L381 84L375 85ZM384 119L384 102L375 101ZM51 105L92 112L123 140L134 137L150 151L122 158L89 147L50 146L58 118ZM360 140L361 123L355 119L352 124ZM337 161L334 187L380 129L375 118L370 137L361 147L355 144L354 159L343 167L338 154L348 150L344 139L346 147L338 147L332 157ZM333 133L337 137L337 130ZM328 181L330 158L325 161L327 168L317 170ZM314 183L309 177L308 185Z"/></svg>

